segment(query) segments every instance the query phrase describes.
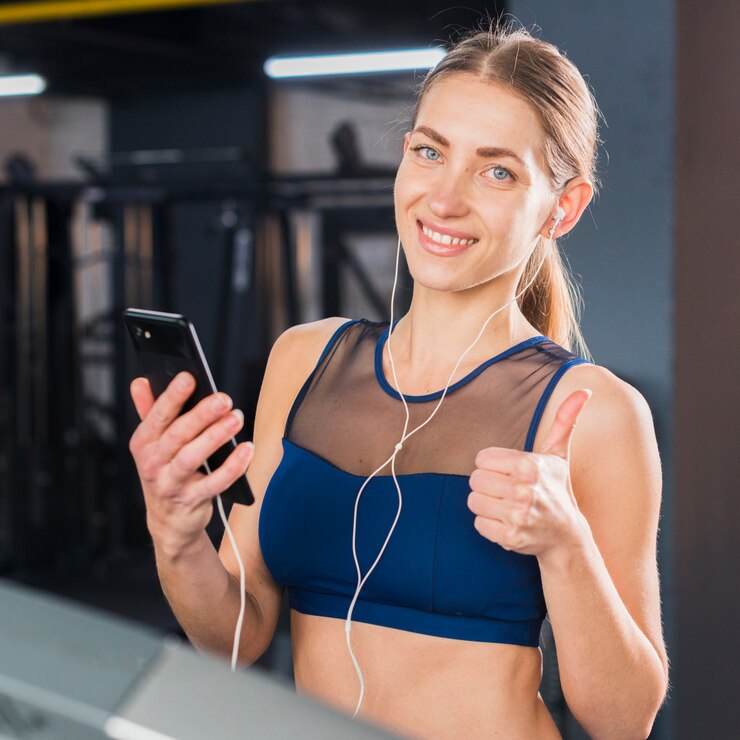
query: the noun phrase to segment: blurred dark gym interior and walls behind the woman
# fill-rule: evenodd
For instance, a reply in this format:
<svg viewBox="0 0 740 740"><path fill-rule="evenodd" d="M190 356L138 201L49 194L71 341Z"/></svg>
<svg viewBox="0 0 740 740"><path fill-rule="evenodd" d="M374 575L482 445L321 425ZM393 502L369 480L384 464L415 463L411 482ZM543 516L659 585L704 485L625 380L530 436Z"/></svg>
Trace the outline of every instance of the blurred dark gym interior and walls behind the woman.
<svg viewBox="0 0 740 740"><path fill-rule="evenodd" d="M420 79L271 80L264 61L432 46L508 12L575 61L607 123L603 192L563 248L595 360L645 395L661 448L672 690L652 736L735 736L740 4L84 5L0 2L0 71L47 81L0 99L0 576L179 632L128 452L121 311L187 315L251 429L281 331L388 318ZM400 312L409 298L404 273ZM543 696L583 737L551 639L545 657ZM291 675L286 619L260 666Z"/></svg>

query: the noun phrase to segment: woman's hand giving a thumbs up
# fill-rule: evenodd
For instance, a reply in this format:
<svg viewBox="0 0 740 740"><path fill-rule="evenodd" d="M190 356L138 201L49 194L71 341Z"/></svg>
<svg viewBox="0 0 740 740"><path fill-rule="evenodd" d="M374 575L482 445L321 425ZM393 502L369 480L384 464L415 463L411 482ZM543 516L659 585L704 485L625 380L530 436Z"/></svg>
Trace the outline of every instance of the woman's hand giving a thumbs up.
<svg viewBox="0 0 740 740"><path fill-rule="evenodd" d="M590 397L581 389L563 401L542 452L487 447L476 455L468 508L483 537L541 556L576 535L582 515L570 484L570 440Z"/></svg>

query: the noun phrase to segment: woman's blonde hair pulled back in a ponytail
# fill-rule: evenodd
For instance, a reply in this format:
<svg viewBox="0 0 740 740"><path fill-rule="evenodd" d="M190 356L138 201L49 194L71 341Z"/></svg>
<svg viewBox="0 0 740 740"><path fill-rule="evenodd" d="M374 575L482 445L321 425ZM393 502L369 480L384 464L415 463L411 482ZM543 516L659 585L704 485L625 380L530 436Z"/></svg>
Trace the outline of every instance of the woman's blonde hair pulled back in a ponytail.
<svg viewBox="0 0 740 740"><path fill-rule="evenodd" d="M562 193L578 176L590 180L596 190L600 112L581 73L557 47L512 24L473 32L458 41L425 77L416 99L414 122L432 86L459 72L505 85L530 103L545 133L543 153L556 193ZM590 359L579 326L581 294L554 239L540 236L516 292L529 282L541 262L535 281L519 298L522 313L541 334Z"/></svg>

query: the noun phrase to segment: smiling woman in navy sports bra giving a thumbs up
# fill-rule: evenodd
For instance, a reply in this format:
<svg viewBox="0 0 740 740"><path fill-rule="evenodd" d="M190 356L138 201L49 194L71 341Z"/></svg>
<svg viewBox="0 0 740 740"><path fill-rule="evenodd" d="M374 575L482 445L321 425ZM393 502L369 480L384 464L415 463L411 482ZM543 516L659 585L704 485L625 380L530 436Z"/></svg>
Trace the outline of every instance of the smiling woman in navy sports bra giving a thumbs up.
<svg viewBox="0 0 740 740"><path fill-rule="evenodd" d="M390 337L339 318L285 332L254 451L208 477L201 462L241 413L219 394L178 417L189 376L156 403L134 381L157 567L196 646L230 652L238 564L205 526L247 471L257 503L230 517L240 661L269 645L287 586L298 690L353 710L352 601L360 716L419 737L558 737L538 694L546 609L589 734L648 735L667 690L660 460L640 394L570 352L583 345L555 242L592 198L596 121L555 47L522 30L464 39L404 140L396 220L414 293Z"/></svg>

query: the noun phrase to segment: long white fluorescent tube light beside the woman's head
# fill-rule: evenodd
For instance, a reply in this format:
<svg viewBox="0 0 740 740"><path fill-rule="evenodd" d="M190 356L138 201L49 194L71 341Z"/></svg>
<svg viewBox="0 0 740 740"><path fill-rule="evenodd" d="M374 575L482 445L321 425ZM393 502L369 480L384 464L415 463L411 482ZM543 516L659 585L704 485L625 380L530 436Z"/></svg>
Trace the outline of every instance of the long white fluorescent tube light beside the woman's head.
<svg viewBox="0 0 740 740"><path fill-rule="evenodd" d="M436 47L401 51L368 51L357 54L271 57L265 62L264 70L268 77L273 78L401 72L411 69L430 69L446 54L444 49Z"/></svg>

